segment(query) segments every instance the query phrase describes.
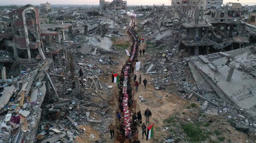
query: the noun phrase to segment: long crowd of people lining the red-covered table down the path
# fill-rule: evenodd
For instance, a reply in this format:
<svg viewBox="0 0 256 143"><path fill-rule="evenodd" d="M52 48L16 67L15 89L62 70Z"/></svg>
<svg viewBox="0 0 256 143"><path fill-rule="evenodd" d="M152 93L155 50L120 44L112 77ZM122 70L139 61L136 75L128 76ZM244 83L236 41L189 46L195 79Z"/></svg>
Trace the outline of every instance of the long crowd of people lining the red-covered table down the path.
<svg viewBox="0 0 256 143"><path fill-rule="evenodd" d="M111 138L116 137L115 139L120 143L140 143L138 139L138 127L141 126L142 129L142 139L144 135L146 136L147 124L149 122L149 117L152 113L149 109L146 109L144 112L145 123L142 123L142 114L140 111L136 111L136 101L134 100L135 92L138 92L139 84L141 84L141 75L139 76L139 82L137 81L137 75L134 74L135 62L138 62L137 56L139 51L139 45L144 39L141 39L141 36L137 36L137 33L134 29L135 19L132 18L132 26L129 28L128 33L130 34L133 44L131 46L130 56L126 63L123 65L121 70L121 75L119 77L119 98L118 105L119 109L116 115L117 125L114 126L112 123L108 126L108 129L111 134ZM141 54L145 53L145 49L140 49ZM147 80L143 80L144 87L146 88ZM135 88L134 88L135 87Z"/></svg>

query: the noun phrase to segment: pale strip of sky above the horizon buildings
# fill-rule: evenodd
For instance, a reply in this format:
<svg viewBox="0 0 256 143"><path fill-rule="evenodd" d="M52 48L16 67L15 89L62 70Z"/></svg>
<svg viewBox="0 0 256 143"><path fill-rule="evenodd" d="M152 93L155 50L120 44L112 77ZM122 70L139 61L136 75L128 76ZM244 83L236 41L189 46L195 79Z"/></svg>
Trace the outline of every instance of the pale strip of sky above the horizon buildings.
<svg viewBox="0 0 256 143"><path fill-rule="evenodd" d="M39 5L40 3L49 2L51 4L87 4L87 5L99 5L99 0L0 0L0 5ZM112 0L106 0L112 1ZM224 0L223 3L237 2L237 3L256 3L256 0ZM171 5L171 0L127 0L128 5L153 5L153 4L164 4Z"/></svg>

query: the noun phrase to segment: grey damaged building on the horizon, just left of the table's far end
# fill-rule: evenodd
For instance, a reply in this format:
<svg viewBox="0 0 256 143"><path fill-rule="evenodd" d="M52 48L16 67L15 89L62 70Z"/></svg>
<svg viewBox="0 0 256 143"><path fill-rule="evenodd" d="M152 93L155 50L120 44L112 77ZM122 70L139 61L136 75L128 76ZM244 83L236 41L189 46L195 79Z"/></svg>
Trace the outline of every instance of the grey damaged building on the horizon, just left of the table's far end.
<svg viewBox="0 0 256 143"><path fill-rule="evenodd" d="M127 1L126 0L113 0L111 3L106 2L105 0L99 0L99 9L126 9Z"/></svg>

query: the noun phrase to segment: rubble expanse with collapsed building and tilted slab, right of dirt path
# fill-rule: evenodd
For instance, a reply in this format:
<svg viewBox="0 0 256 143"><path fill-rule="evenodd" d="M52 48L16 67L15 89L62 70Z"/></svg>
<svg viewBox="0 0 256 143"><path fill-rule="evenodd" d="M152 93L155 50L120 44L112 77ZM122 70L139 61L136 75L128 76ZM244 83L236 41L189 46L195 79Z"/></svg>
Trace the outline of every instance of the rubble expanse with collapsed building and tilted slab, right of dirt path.
<svg viewBox="0 0 256 143"><path fill-rule="evenodd" d="M137 18L141 21L138 27L143 29L139 35L145 35L146 53L154 53L142 66L145 73L151 74L149 84L155 90L200 101L202 112L226 116L234 128L250 137L256 135L253 83L256 27L244 20L220 22L225 17L214 20L200 16L197 10L195 20L182 20L177 27L168 27L157 25L164 14L157 11L154 16L153 11L148 8L142 12L145 17ZM197 31L193 31L196 28L199 38ZM153 94L156 98L165 96ZM143 96L139 99L147 102Z"/></svg>

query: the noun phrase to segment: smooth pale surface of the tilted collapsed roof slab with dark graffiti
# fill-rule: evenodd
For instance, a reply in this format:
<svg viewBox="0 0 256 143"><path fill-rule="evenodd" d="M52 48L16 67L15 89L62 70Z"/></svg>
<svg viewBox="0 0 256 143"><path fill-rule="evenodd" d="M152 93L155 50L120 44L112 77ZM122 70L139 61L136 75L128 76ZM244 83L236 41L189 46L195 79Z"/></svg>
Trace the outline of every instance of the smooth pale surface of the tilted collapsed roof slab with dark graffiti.
<svg viewBox="0 0 256 143"><path fill-rule="evenodd" d="M249 62L250 60L254 60L251 57L254 57L255 55L247 50L248 48L243 48L243 50L244 49L248 52L247 54L244 54L241 49L237 49L237 52L236 50L235 52L233 50L229 53L232 57L232 63L235 63L236 65L230 81L227 81L227 76L230 71L229 62L227 62L227 59L223 58L223 56L211 61L215 64L217 71L214 71L209 67L209 64L205 64L201 61L198 56L191 57L190 61L195 64L195 67L198 68L204 77L207 77L207 80L214 83L214 85L211 86L217 94L219 91L216 90L221 90L221 93L229 98L234 104L244 109L251 109L256 106L256 77L252 76L250 72L241 69L243 64L241 63L241 56L243 57L242 59L246 59L247 62ZM221 60L224 61L221 62ZM217 89L215 87L217 87Z"/></svg>

